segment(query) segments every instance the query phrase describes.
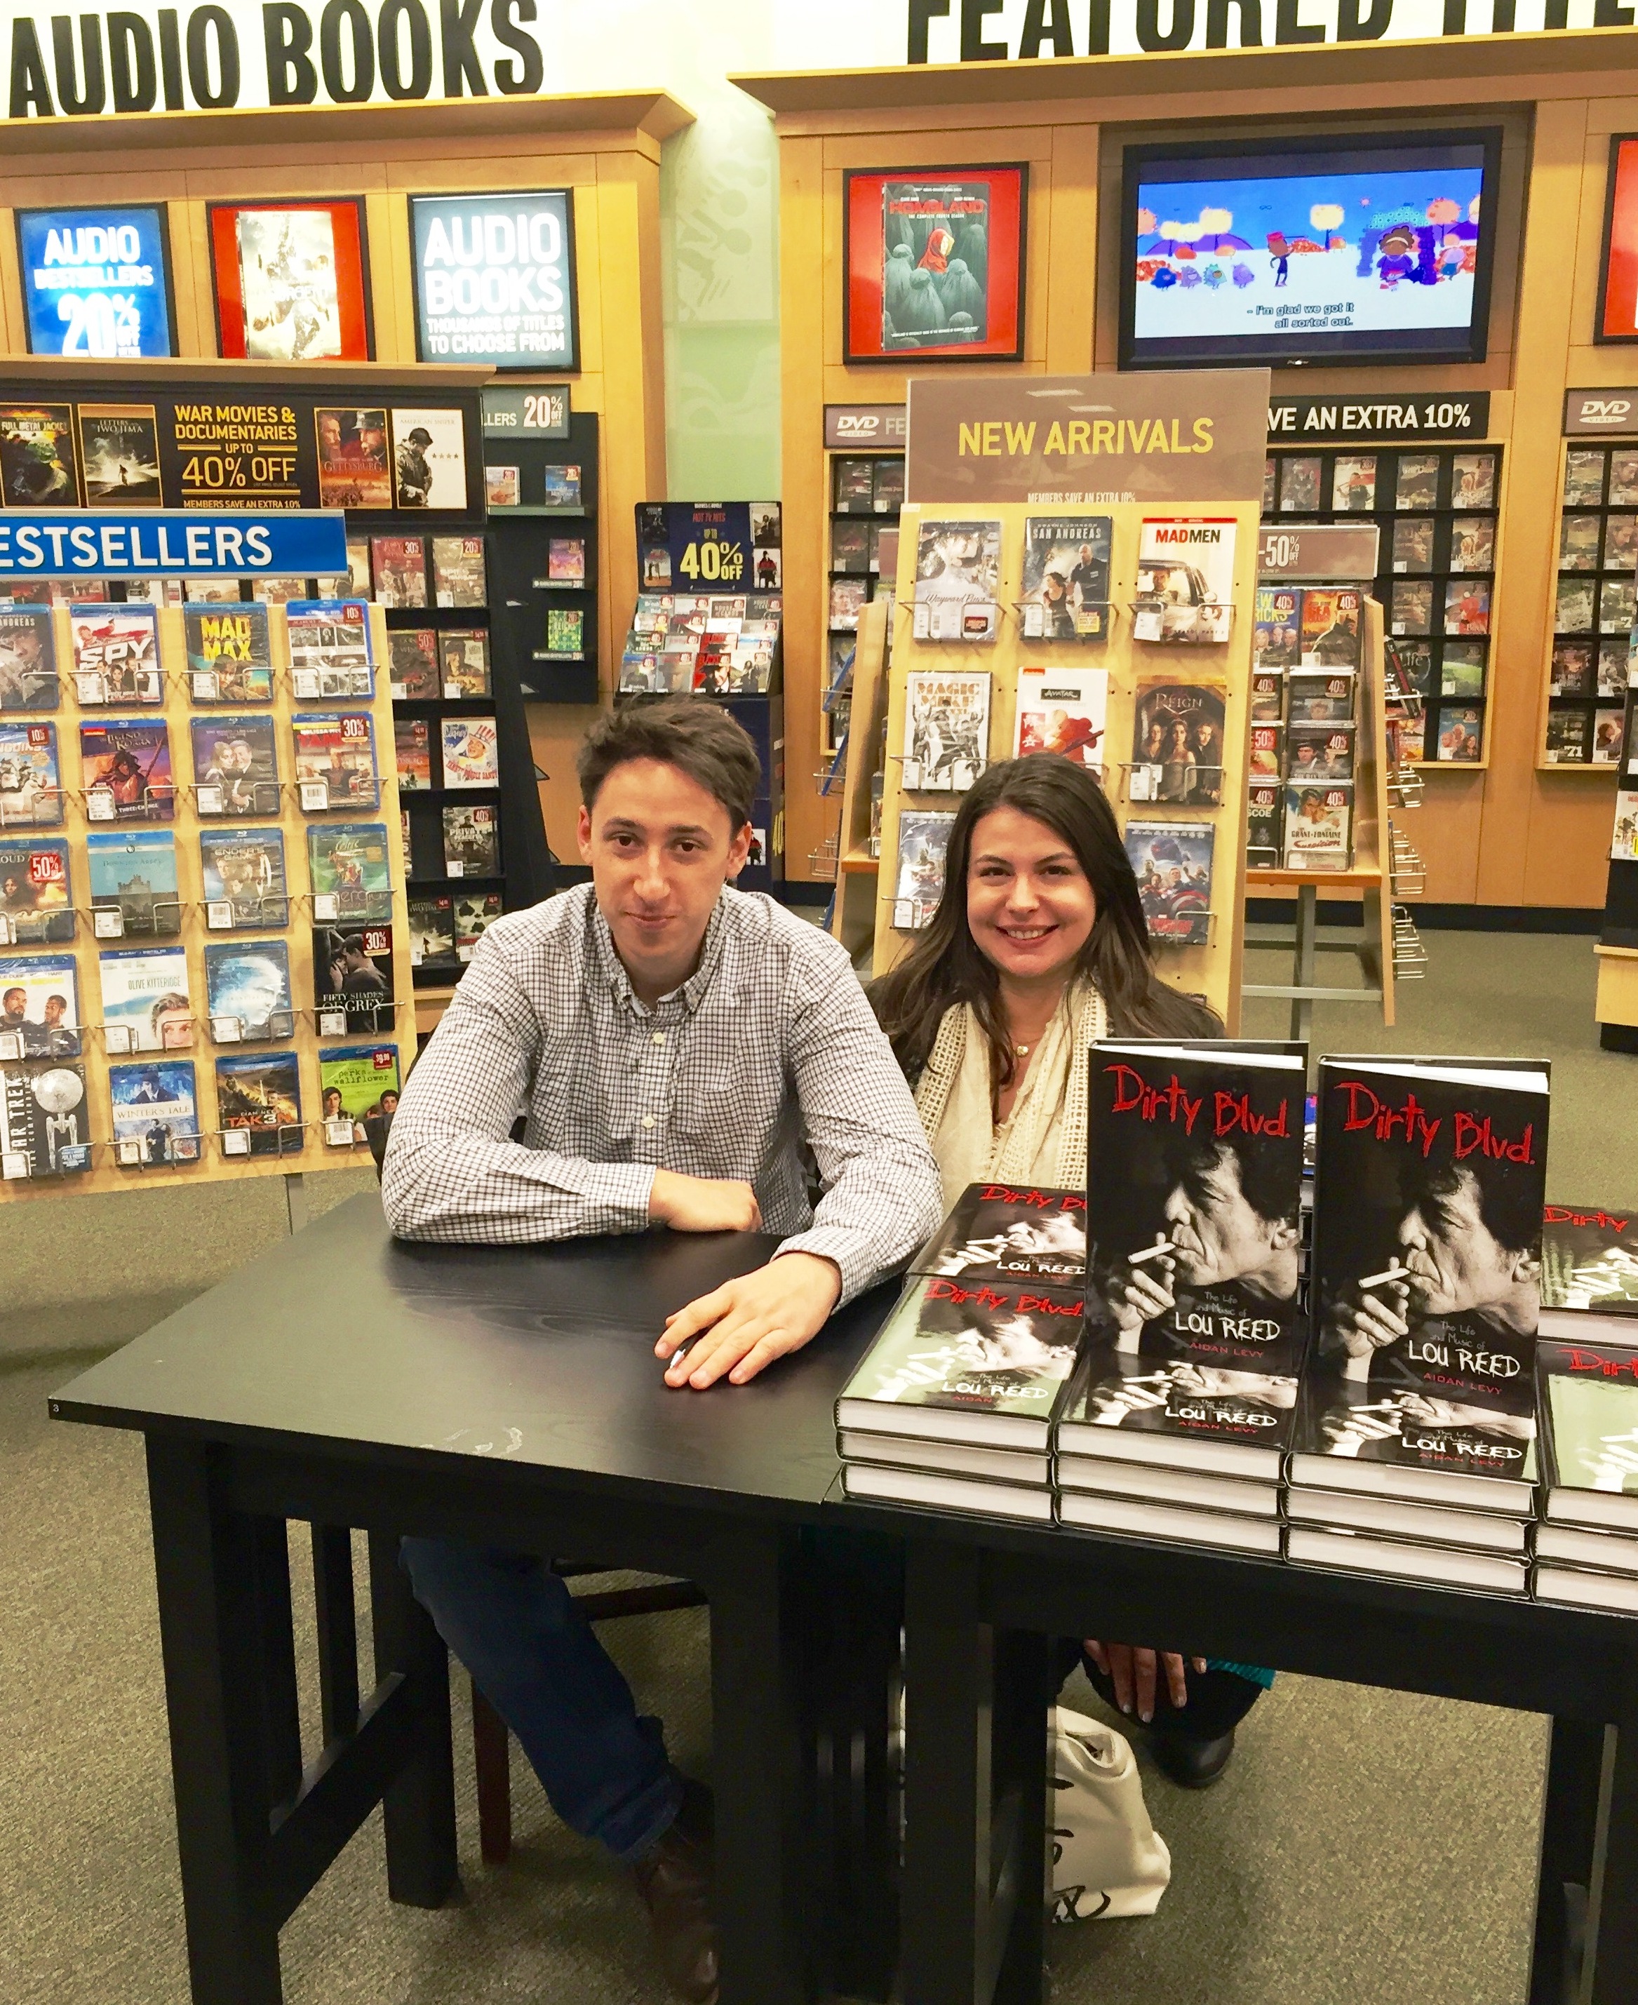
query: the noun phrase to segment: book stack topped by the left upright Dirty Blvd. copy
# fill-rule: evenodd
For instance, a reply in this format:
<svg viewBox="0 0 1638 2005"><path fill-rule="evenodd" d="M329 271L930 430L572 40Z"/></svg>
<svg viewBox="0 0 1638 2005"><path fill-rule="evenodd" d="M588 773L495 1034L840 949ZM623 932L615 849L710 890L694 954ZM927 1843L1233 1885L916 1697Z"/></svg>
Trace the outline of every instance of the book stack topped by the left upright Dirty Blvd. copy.
<svg viewBox="0 0 1638 2005"><path fill-rule="evenodd" d="M1307 1335L1301 1045L1093 1051L1089 1349L1061 1524L1279 1554Z"/></svg>

